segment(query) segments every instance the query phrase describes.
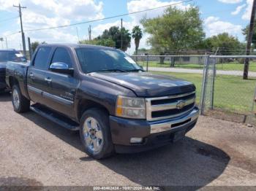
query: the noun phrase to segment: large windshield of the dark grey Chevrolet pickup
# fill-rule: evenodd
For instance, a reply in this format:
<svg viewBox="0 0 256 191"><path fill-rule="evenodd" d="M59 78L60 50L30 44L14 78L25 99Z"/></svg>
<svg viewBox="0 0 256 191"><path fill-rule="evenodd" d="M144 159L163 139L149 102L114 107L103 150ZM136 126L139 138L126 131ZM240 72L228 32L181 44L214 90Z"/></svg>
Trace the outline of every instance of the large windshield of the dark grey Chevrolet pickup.
<svg viewBox="0 0 256 191"><path fill-rule="evenodd" d="M107 50L82 47L77 48L76 53L84 73L94 71L140 71L132 58L121 50Z"/></svg>

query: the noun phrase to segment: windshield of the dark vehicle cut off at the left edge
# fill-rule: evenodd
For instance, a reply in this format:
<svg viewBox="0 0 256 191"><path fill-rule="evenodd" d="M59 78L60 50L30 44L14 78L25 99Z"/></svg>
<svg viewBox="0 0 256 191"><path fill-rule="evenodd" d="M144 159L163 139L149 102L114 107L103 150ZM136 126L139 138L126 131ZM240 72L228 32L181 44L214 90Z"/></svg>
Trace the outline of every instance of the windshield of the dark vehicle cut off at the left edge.
<svg viewBox="0 0 256 191"><path fill-rule="evenodd" d="M18 51L0 51L0 62L26 62L26 58Z"/></svg>

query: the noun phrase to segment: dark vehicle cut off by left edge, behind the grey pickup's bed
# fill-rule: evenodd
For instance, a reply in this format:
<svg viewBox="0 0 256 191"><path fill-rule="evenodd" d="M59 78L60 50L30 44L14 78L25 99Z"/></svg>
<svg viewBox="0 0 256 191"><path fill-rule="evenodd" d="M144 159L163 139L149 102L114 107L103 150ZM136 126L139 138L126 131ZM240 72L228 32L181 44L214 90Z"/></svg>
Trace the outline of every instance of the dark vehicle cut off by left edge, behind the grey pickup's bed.
<svg viewBox="0 0 256 191"><path fill-rule="evenodd" d="M26 62L26 58L17 50L0 50L0 93L9 91L5 82L5 70L8 61Z"/></svg>

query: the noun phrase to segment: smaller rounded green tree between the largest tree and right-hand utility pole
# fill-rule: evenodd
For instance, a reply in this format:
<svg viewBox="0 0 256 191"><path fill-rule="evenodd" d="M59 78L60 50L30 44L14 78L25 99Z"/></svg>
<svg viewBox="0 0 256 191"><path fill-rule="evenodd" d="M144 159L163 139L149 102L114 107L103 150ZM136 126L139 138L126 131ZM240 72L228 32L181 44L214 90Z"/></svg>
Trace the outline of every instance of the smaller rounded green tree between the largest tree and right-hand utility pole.
<svg viewBox="0 0 256 191"><path fill-rule="evenodd" d="M235 36L227 33L211 36L205 41L206 47L213 52L218 49L220 55L238 55L243 54L244 44L238 41Z"/></svg>

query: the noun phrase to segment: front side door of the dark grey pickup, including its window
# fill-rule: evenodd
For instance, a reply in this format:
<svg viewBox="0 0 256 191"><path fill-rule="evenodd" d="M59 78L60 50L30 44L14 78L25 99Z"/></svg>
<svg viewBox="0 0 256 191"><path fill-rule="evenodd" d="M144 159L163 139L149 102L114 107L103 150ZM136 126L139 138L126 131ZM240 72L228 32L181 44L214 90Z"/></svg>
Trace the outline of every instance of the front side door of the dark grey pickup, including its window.
<svg viewBox="0 0 256 191"><path fill-rule="evenodd" d="M67 63L73 68L72 52L67 47L56 47L51 63ZM48 69L46 78L50 80L48 89L49 106L68 117L75 118L74 98L78 88L78 79L69 74L60 74Z"/></svg>

